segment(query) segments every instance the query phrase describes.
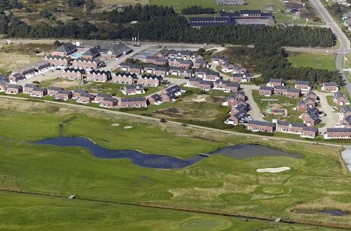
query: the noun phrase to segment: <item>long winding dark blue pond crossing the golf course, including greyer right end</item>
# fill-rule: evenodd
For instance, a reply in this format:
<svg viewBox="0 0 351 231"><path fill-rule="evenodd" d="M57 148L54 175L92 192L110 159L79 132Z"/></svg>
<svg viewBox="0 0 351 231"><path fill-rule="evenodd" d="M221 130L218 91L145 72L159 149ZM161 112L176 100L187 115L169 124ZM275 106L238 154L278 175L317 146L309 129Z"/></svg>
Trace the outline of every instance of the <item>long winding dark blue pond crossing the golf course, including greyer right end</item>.
<svg viewBox="0 0 351 231"><path fill-rule="evenodd" d="M128 158L133 161L134 165L141 167L159 168L159 169L179 169L192 165L205 157L196 155L185 160L173 158L167 155L144 154L133 150L111 150L102 148L94 144L91 140L82 137L57 137L44 139L34 142L34 144L46 144L53 146L69 147L78 146L88 148L97 158ZM268 148L258 145L241 145L218 149L208 155L215 154L227 155L230 158L256 158L261 156L289 156L293 158L302 158L299 155L285 153L274 148Z"/></svg>

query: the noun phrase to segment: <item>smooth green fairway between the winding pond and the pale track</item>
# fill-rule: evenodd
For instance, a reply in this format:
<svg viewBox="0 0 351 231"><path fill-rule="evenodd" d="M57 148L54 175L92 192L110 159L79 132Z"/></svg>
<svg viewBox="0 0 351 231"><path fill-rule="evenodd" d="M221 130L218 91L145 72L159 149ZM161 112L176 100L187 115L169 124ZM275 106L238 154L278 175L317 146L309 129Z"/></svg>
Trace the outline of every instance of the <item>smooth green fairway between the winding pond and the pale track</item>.
<svg viewBox="0 0 351 231"><path fill-rule="evenodd" d="M69 137L88 137L105 148L133 149L178 158L190 158L225 146L212 141L175 136L154 126L140 125L138 121L119 123L118 127L111 125L110 120L79 116L65 125L65 134ZM124 129L125 126L133 128Z"/></svg>

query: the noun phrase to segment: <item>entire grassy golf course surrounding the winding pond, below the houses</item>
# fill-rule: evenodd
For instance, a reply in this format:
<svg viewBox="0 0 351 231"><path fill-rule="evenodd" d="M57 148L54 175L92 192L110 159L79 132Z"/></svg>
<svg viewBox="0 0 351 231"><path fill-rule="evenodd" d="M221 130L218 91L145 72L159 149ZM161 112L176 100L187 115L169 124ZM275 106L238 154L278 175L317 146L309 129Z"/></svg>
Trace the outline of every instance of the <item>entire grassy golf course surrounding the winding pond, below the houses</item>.
<svg viewBox="0 0 351 231"><path fill-rule="evenodd" d="M63 197L76 195L91 200L154 204L272 220L282 217L284 221L351 228L350 216L312 214L306 217L290 212L300 208L350 211L347 198L350 198L351 175L340 158L341 147L260 137L248 139L245 135L204 132L65 106L51 109L51 113L42 113L48 104L27 104L26 109L4 107L0 110L0 137L20 141L58 137L58 124L65 123L66 136L87 137L105 148L189 158L230 144L260 144L296 153L303 158L234 159L213 155L183 169L150 169L133 165L127 159L95 158L86 148L0 139L2 190ZM119 126L112 127L115 123ZM124 129L125 126L133 128ZM291 167L291 170L256 172L258 168L281 166ZM0 193L1 230L96 230L102 224L106 230L122 227L126 230L160 230L164 225L171 230L301 228L282 223L272 225L265 221L246 223L239 218L208 214L190 215L183 211L124 208L102 202L14 194ZM57 223L53 222L55 219ZM123 222L119 222L121 220Z"/></svg>

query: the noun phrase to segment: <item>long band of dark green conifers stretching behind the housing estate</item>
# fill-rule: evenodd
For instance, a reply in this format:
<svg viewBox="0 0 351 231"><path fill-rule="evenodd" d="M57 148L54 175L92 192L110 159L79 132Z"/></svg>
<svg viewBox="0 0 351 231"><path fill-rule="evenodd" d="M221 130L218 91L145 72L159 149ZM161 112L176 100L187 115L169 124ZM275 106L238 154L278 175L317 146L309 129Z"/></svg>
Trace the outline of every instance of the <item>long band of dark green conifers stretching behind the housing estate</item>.
<svg viewBox="0 0 351 231"><path fill-rule="evenodd" d="M185 43L268 44L279 46L330 47L336 43L331 29L321 27L241 26L190 27L187 19L168 6L126 6L107 13L108 26L95 27L86 21L52 26L44 22L27 25L17 17L0 12L0 33L22 38L126 39L139 34L141 40ZM126 22L138 21L125 26ZM113 26L111 25L113 24Z"/></svg>

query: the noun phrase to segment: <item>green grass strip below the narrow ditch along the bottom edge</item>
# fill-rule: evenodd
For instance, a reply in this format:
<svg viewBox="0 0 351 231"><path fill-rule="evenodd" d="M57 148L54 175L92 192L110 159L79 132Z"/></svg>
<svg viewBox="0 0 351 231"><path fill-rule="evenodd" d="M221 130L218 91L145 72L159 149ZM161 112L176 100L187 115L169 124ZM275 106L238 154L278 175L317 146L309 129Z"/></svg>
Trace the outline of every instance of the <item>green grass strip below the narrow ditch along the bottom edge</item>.
<svg viewBox="0 0 351 231"><path fill-rule="evenodd" d="M0 192L1 230L253 230L316 228L165 209ZM40 209L39 209L40 208ZM133 214L133 216L129 216ZM319 230L326 230L320 229Z"/></svg>

